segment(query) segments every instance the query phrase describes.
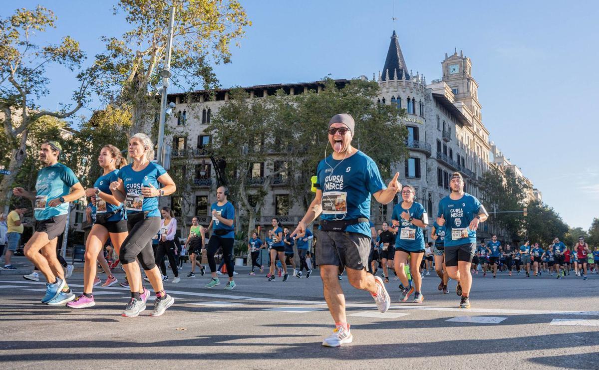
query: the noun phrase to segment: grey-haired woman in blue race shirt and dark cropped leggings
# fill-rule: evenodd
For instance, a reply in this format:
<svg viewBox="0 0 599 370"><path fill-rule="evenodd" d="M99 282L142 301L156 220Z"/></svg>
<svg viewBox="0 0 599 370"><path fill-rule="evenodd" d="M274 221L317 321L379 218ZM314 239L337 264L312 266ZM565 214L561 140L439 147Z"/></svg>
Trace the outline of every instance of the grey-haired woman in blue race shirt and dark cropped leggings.
<svg viewBox="0 0 599 370"><path fill-rule="evenodd" d="M152 249L152 238L161 225L158 197L171 195L177 186L161 165L150 162L154 159L153 147L152 139L146 134L133 135L128 146L129 157L133 162L122 167L118 174L119 180L110 184L114 198L125 204L129 231L119 253L131 291L131 299L122 313L125 317L136 317L146 310L146 301L141 298L141 293L145 291L140 293L140 265L156 294L150 316L161 316L175 301L162 286L162 276Z"/></svg>

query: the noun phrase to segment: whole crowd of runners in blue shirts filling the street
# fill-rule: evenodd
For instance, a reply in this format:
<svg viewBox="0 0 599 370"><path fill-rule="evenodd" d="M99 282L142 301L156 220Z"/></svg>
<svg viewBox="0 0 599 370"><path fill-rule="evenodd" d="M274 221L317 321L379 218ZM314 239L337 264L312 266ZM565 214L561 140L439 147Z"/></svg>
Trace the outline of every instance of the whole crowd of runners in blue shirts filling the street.
<svg viewBox="0 0 599 370"><path fill-rule="evenodd" d="M290 275L310 278L318 266L323 294L335 323L333 333L323 339L323 345L337 347L353 338L339 283L342 274L346 274L351 286L370 293L378 310L385 313L391 305L385 286L391 276L399 281L399 301L422 303L423 278L434 270L440 278L438 290L448 293L449 280L455 281L455 292L460 298L458 307L470 308L472 274L479 271L483 276L489 273L493 277L498 272L508 275L515 272L527 277L546 274L556 278L572 272L585 280L589 273L598 271L599 248L592 251L582 237L572 248L558 238L547 246L528 241L512 246L500 242L495 235L488 242L477 244L477 228L488 214L477 198L464 192L464 179L459 172L451 175L450 194L441 199L437 214L429 218L415 199L415 189L398 182L398 173L385 185L376 163L352 147L354 129L355 122L349 114L337 114L328 123L327 147L331 145L332 154L326 156L325 148L325 159L320 161L313 178L314 199L298 225L286 228L273 219L271 228L263 235L264 241L255 232L247 242L252 260L249 275L255 276L259 271L268 281L281 278L285 282ZM189 234L181 242L176 237L177 219L173 211L159 207L159 198L175 192L176 184L161 165L152 161L153 147L146 134L135 134L129 139L128 163L119 148L105 145L98 156L102 174L93 187L84 189L74 172L58 162L60 144L47 141L41 145L43 168L38 172L35 190L16 187L13 194L35 204L34 234L26 242L24 253L36 271L25 277L37 280L38 274L42 274L46 278L42 303L66 304L73 309L92 307L93 287L101 283L98 264L107 275L102 284L105 287L117 283L111 271L120 265L126 275L120 284L131 291L122 315L135 317L146 310L151 294L149 287L144 286L146 281L156 298L150 316L161 316L174 304L174 298L165 292L163 285L168 279L164 259L167 257L174 275L171 283L179 283L182 255L188 256L190 263L188 278L195 278L198 269L203 276L206 268L201 259L207 259L211 276L205 288L219 286L219 275L224 274L228 276L224 289L237 286L235 207L228 201L229 190L224 186L217 188L217 201L210 207L210 224L204 228L199 225L198 217L193 217ZM390 222L376 230L370 221L371 196L380 204L388 204L398 192L401 201L394 206ZM84 196L89 199L87 216L93 226L86 239L83 292L75 295L66 283L72 266L63 269L66 263L59 260L56 244L65 229L68 203ZM25 205L19 205L7 217L8 228L4 233L8 269L13 268L10 256L23 232L25 210ZM318 217L319 228L312 230L308 225ZM2 219L0 241L1 225ZM430 235L425 235L429 226ZM426 238L432 241L427 243ZM110 248L104 247L107 243ZM222 264L217 267L219 255Z"/></svg>

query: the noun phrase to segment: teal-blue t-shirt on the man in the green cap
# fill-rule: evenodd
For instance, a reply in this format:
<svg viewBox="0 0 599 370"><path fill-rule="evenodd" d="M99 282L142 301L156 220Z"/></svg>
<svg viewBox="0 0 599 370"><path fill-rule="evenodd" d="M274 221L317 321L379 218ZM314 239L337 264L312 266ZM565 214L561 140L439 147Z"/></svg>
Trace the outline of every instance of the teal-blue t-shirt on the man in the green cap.
<svg viewBox="0 0 599 370"><path fill-rule="evenodd" d="M69 211L68 202L59 204L56 207L47 207L47 204L52 199L68 195L71 187L78 182L79 180L72 169L62 163L41 168L38 171L37 181L35 181L35 219L41 221L67 214Z"/></svg>

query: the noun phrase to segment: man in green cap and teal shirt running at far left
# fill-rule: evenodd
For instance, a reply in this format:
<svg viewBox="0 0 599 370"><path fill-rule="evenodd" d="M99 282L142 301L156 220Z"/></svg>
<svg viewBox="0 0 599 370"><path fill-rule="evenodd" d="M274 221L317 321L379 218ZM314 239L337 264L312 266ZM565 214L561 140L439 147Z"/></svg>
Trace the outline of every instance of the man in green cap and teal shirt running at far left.
<svg viewBox="0 0 599 370"><path fill-rule="evenodd" d="M56 257L56 242L65 230L69 202L85 195L73 171L58 163L61 152L62 147L57 141L41 144L40 162L43 168L38 171L35 192L28 192L22 187L13 189L14 195L35 201L37 222L23 253L46 277L46 295L41 302L49 305L62 305L75 299Z"/></svg>

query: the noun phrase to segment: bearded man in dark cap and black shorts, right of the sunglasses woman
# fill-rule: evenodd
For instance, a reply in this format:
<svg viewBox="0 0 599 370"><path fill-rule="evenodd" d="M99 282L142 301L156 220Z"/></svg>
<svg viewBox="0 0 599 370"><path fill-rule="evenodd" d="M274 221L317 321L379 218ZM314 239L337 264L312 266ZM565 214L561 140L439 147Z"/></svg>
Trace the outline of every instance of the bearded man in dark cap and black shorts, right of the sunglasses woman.
<svg viewBox="0 0 599 370"><path fill-rule="evenodd" d="M478 199L464 193L464 179L459 172L453 172L449 187L451 193L439 202L437 225L447 222L444 241L447 274L458 281L459 307L470 308L470 265L476 251L476 229L488 214Z"/></svg>

